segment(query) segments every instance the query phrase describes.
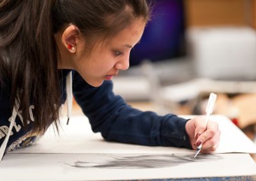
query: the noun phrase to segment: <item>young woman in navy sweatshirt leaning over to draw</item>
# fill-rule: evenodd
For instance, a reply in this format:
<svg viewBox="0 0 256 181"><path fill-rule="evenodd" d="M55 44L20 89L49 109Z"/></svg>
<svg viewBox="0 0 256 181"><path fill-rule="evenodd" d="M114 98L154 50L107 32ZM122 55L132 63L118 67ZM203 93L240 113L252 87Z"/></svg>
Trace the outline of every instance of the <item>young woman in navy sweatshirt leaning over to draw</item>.
<svg viewBox="0 0 256 181"><path fill-rule="evenodd" d="M129 68L149 18L145 0L1 1L0 156L33 143L52 123L58 128L72 91L108 141L215 150L216 123L141 112L113 94L111 79Z"/></svg>

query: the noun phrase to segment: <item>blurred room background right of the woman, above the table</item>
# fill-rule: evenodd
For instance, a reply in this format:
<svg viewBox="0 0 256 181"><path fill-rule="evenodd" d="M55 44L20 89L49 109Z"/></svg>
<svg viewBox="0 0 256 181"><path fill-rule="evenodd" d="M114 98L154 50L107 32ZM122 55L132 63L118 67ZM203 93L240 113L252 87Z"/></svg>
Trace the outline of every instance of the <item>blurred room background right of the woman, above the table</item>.
<svg viewBox="0 0 256 181"><path fill-rule="evenodd" d="M215 92L214 113L255 141L255 29L254 0L157 0L114 92L140 110L179 115L205 114Z"/></svg>

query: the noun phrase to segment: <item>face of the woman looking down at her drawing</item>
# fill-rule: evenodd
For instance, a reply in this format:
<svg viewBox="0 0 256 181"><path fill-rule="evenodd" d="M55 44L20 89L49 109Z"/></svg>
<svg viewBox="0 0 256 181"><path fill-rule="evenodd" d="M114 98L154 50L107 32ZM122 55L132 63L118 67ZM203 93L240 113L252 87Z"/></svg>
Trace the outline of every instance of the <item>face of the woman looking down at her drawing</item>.
<svg viewBox="0 0 256 181"><path fill-rule="evenodd" d="M120 70L129 68L131 48L140 41L144 28L145 22L136 20L108 43L93 48L90 55L81 53L81 58L74 62L74 68L86 82L99 87L104 80L111 80Z"/></svg>

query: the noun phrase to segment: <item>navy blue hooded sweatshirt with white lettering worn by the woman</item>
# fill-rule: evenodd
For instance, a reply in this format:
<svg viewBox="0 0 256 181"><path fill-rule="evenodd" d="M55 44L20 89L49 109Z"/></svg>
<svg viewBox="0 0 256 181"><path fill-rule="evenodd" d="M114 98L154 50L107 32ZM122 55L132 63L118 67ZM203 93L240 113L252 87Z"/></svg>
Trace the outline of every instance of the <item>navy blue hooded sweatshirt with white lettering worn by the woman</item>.
<svg viewBox="0 0 256 181"><path fill-rule="evenodd" d="M62 70L61 73L63 101L67 98L65 84L69 72L70 70ZM100 87L92 87L76 71L72 71L72 75L74 98L81 106L84 115L88 117L93 132L100 132L105 140L148 146L191 148L185 130L186 119L173 114L159 116L154 112L141 112L127 105L124 99L113 93L111 81L104 81ZM0 146L8 133L13 110L10 107L8 90L10 87L7 89L0 87ZM29 107L31 119L34 108L33 105ZM36 134L30 134L23 129L20 119L22 117L18 113L6 151L30 145L37 138Z"/></svg>

